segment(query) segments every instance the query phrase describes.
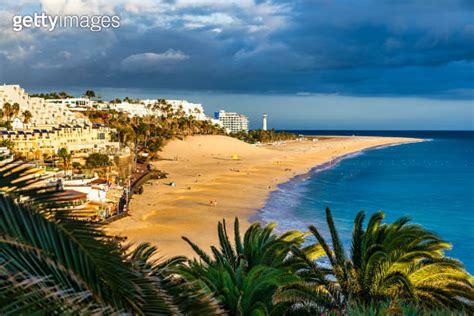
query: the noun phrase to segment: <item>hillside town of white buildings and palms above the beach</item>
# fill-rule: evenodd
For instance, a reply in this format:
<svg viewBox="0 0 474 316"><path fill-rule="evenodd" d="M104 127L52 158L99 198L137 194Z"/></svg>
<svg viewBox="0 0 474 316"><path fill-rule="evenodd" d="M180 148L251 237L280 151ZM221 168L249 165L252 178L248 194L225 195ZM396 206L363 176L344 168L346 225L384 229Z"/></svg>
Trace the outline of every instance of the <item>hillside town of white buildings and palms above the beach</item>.
<svg viewBox="0 0 474 316"><path fill-rule="evenodd" d="M245 115L221 110L212 117L186 100L100 100L64 92L29 95L0 85L0 159L26 161L41 171L41 185L83 201L90 220L125 213L133 193L165 173L152 170L159 149L174 137L247 133Z"/></svg>

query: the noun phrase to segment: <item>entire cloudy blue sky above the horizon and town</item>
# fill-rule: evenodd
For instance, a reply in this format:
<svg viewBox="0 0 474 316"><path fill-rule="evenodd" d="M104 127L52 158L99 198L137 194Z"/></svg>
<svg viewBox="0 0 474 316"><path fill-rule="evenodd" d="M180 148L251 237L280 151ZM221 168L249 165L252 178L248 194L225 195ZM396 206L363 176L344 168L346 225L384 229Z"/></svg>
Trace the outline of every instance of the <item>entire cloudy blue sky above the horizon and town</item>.
<svg viewBox="0 0 474 316"><path fill-rule="evenodd" d="M14 15L118 15L23 29ZM474 129L472 0L3 0L0 83L184 98L277 129Z"/></svg>

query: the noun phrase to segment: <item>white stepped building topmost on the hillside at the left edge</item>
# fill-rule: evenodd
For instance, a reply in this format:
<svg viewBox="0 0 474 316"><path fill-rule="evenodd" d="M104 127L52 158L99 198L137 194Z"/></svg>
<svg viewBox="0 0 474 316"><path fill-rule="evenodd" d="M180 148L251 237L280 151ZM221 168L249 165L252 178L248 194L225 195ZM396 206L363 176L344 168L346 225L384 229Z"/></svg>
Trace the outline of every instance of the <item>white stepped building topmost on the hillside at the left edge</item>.
<svg viewBox="0 0 474 316"><path fill-rule="evenodd" d="M89 122L82 114L73 113L64 105L54 105L45 102L43 98L30 97L19 85L0 85L0 109L5 103L17 103L20 107L19 113L12 117L16 129ZM23 117L25 111L31 113L28 122Z"/></svg>

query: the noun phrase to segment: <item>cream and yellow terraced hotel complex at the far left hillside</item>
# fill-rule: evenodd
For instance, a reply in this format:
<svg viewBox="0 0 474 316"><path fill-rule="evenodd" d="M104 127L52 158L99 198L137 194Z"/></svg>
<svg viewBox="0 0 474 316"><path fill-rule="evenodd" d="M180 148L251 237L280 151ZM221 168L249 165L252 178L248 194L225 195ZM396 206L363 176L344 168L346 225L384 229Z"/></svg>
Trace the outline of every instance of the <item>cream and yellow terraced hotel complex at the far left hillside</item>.
<svg viewBox="0 0 474 316"><path fill-rule="evenodd" d="M92 124L82 113L68 107L87 106L89 99L46 100L31 98L19 85L0 85L0 109L17 103L20 111L12 118L12 130L0 129L0 140L12 143L13 152L27 159L40 159L66 148L74 156L92 152L112 153L120 148L112 141L114 130ZM22 113L29 111L25 122Z"/></svg>

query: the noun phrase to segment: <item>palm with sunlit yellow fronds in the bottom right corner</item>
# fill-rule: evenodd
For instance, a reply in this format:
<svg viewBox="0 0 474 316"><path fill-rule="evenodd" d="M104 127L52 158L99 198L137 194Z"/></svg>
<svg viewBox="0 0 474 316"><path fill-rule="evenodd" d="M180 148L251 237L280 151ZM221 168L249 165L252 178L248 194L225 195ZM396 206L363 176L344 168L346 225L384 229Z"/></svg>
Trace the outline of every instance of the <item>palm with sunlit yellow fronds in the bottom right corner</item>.
<svg viewBox="0 0 474 316"><path fill-rule="evenodd" d="M330 268L294 249L294 254L307 263L300 271L305 282L280 288L275 303L292 303L292 310L310 313L341 312L348 304L396 300L430 309L472 310L472 278L460 262L444 256L450 245L437 235L408 224L405 217L382 224L382 212L373 214L364 229L365 215L360 212L354 221L348 257L329 209L326 218L332 247L316 227L309 229L318 241L318 254L328 259Z"/></svg>

